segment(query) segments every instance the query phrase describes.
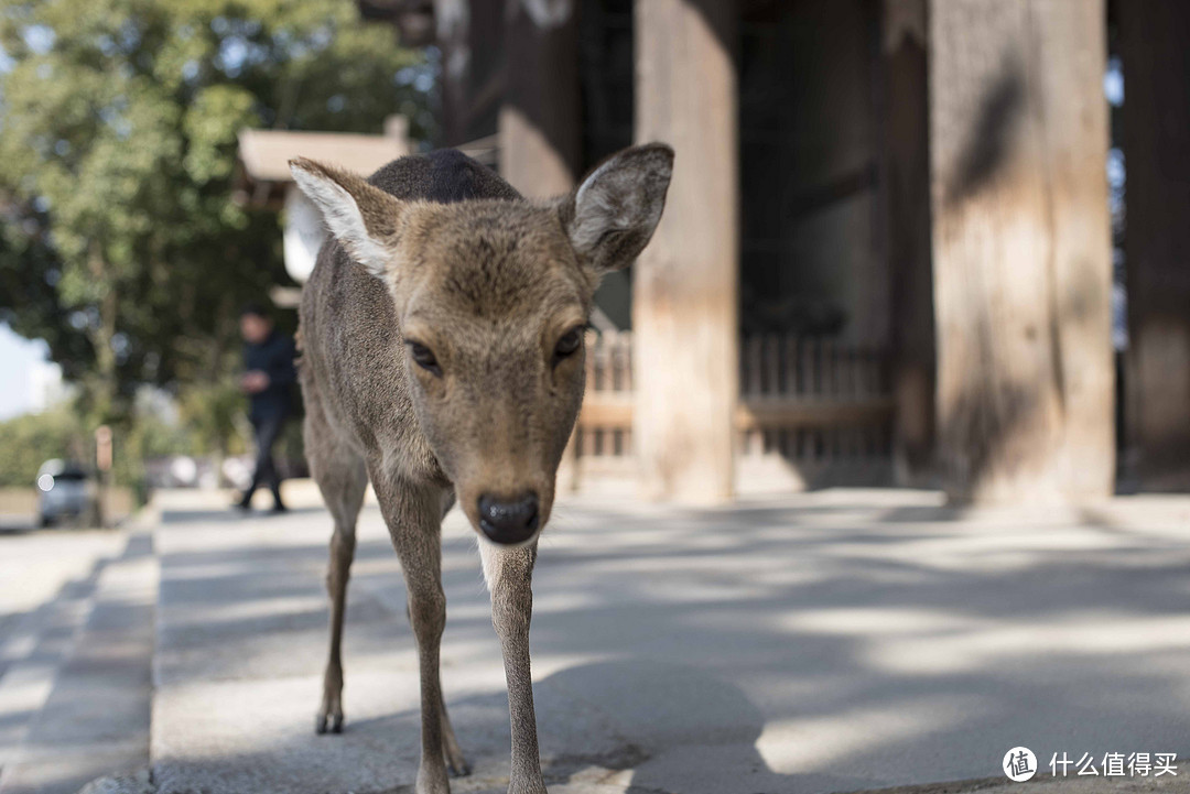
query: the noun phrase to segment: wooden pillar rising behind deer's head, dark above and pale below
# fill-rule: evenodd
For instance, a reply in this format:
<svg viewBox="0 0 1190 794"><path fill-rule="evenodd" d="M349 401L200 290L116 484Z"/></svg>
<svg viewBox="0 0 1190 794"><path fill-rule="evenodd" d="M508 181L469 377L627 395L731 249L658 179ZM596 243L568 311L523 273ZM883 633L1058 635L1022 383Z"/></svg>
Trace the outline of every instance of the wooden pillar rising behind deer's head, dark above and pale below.
<svg viewBox="0 0 1190 794"><path fill-rule="evenodd" d="M574 0L508 0L500 175L526 196L574 187L580 168L578 25Z"/></svg>

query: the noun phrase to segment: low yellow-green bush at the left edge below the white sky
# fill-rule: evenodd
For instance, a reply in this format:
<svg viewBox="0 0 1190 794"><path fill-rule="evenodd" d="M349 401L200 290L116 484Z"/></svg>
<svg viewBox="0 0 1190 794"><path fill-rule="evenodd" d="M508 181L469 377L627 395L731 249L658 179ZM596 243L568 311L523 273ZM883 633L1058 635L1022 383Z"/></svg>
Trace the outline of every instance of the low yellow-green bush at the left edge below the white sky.
<svg viewBox="0 0 1190 794"><path fill-rule="evenodd" d="M0 422L0 487L32 487L37 470L51 458L86 462L90 446L69 409L27 414Z"/></svg>

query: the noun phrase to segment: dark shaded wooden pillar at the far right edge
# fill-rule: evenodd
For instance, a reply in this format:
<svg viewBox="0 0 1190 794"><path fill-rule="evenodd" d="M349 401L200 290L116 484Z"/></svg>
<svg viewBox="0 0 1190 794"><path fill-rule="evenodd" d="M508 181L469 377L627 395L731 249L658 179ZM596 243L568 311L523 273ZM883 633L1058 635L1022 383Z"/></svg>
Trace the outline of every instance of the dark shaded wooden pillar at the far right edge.
<svg viewBox="0 0 1190 794"><path fill-rule="evenodd" d="M1116 6L1123 64L1126 440L1142 486L1190 483L1190 4Z"/></svg>

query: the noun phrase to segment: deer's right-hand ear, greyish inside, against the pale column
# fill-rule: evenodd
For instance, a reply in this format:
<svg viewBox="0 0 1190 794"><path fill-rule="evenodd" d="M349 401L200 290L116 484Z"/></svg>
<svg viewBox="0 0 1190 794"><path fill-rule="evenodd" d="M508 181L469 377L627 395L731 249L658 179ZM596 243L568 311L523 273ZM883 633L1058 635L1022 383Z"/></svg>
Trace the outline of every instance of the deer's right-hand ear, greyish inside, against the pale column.
<svg viewBox="0 0 1190 794"><path fill-rule="evenodd" d="M578 256L601 273L632 264L662 219L672 172L665 144L625 149L591 171L562 204Z"/></svg>

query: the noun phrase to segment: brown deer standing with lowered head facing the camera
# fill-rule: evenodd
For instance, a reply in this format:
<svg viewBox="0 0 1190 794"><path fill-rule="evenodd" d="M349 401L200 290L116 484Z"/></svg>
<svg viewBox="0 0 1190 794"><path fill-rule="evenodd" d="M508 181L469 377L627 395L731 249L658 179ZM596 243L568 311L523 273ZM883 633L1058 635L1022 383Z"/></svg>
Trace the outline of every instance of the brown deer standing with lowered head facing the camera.
<svg viewBox="0 0 1190 794"><path fill-rule="evenodd" d="M652 238L674 150L626 149L545 201L455 150L367 179L289 166L328 231L299 310L306 455L334 524L315 731L343 730L344 610L371 483L418 650L414 790L449 794L449 776L470 773L439 678L441 521L457 503L478 538L508 687L508 792L544 794L528 644L538 538L583 398L595 289Z"/></svg>

